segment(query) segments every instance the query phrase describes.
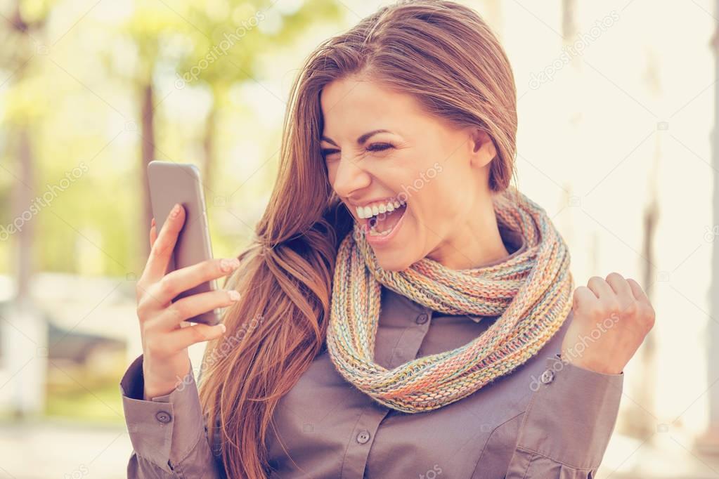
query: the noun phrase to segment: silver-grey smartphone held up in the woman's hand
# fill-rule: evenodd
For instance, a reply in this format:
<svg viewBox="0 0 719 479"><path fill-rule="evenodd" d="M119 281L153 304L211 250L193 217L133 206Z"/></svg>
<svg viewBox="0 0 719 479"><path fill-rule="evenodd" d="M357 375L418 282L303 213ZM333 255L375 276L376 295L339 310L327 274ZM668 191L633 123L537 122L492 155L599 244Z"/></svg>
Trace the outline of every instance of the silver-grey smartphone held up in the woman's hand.
<svg viewBox="0 0 719 479"><path fill-rule="evenodd" d="M198 167L189 163L154 160L147 164L147 182L150 185L152 215L155 217L158 233L175 203L180 203L185 208L185 224L180 230L165 274L211 259L212 244ZM188 289L173 298L173 302L192 294L215 291L217 289L215 281L212 279ZM216 325L220 322L220 311L204 312L187 321Z"/></svg>

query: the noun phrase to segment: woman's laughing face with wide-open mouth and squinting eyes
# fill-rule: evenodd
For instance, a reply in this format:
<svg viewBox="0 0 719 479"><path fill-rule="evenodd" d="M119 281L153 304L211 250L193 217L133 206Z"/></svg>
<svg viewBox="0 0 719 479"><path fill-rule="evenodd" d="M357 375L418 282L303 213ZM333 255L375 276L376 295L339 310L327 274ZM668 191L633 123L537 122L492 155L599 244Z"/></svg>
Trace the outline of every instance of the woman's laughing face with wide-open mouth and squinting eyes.
<svg viewBox="0 0 719 479"><path fill-rule="evenodd" d="M366 228L380 266L401 271L429 256L472 267L487 225L477 217L491 208L489 137L429 116L412 96L370 80L336 80L320 102L329 182Z"/></svg>

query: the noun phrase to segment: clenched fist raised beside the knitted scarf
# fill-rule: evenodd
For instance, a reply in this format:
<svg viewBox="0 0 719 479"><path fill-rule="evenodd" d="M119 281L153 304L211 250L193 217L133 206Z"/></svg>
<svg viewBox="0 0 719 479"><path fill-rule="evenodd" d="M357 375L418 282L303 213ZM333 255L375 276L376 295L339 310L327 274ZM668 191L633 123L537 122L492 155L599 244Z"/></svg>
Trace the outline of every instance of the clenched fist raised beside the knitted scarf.
<svg viewBox="0 0 719 479"><path fill-rule="evenodd" d="M619 374L654 326L654 308L633 279L592 276L574 290L574 318L562 341L562 358L576 366Z"/></svg>

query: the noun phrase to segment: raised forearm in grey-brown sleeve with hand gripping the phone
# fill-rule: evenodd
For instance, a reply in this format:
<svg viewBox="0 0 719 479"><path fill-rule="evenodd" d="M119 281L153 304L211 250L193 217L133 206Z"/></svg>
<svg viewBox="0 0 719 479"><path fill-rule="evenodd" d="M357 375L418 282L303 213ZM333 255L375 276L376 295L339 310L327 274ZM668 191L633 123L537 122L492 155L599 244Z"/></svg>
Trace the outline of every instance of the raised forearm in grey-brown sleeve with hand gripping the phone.
<svg viewBox="0 0 719 479"><path fill-rule="evenodd" d="M222 473L209 450L188 346L218 338L225 327L190 325L187 320L229 306L239 293L217 290L173 299L229 274L239 261L209 259L165 274L184 222L181 205L175 205L159 235L152 220L150 258L137 281L142 355L120 382L134 449L129 478L219 478Z"/></svg>

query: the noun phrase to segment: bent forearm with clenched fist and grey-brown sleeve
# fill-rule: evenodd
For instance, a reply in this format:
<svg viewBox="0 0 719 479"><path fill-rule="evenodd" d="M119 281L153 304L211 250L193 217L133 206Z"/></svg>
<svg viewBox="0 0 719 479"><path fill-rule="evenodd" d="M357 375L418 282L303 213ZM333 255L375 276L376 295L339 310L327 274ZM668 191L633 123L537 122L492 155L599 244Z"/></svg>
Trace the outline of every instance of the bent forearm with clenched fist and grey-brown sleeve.
<svg viewBox="0 0 719 479"><path fill-rule="evenodd" d="M633 279L592 276L574 290L562 350L528 404L506 478L594 478L616 422L624 367L654 327Z"/></svg>

